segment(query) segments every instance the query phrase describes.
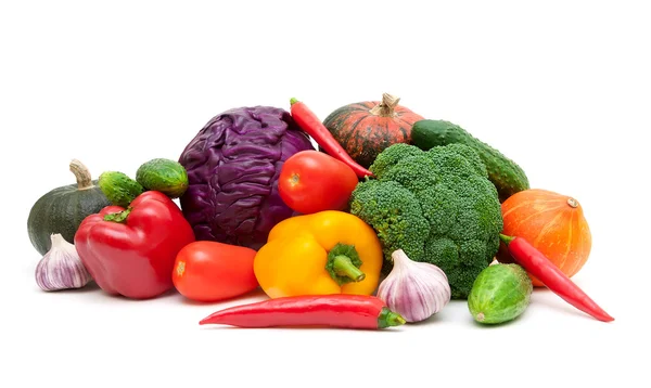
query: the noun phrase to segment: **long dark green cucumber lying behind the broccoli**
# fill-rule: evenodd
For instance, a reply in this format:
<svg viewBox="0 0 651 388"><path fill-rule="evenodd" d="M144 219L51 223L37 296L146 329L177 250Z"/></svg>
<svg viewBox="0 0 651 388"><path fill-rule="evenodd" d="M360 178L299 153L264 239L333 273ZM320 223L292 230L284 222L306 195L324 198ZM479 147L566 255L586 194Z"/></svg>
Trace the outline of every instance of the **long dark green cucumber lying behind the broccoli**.
<svg viewBox="0 0 651 388"><path fill-rule="evenodd" d="M430 119L416 121L411 127L411 143L424 151L451 143L470 145L486 165L488 179L495 184L502 203L511 195L529 189L528 178L515 161L456 124Z"/></svg>

